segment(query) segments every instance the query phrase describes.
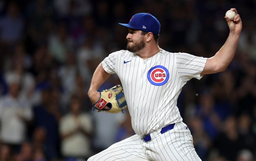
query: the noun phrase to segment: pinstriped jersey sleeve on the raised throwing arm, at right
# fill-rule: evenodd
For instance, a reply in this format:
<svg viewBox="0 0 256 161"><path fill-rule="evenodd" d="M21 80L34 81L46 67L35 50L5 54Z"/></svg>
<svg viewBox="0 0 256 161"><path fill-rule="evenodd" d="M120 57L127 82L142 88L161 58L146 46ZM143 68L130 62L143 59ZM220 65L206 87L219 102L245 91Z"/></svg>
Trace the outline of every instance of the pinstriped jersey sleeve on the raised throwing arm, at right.
<svg viewBox="0 0 256 161"><path fill-rule="evenodd" d="M179 52L176 53L176 59L177 72L182 80L202 78L200 73L203 71L207 58Z"/></svg>

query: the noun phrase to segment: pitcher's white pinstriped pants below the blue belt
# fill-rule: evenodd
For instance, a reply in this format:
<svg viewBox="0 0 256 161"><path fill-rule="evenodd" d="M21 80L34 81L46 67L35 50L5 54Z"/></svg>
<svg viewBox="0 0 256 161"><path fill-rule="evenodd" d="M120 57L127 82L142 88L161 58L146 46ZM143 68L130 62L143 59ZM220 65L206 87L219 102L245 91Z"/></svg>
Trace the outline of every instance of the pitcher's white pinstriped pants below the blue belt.
<svg viewBox="0 0 256 161"><path fill-rule="evenodd" d="M186 127L180 122L164 134L159 129L151 133L152 140L147 143L139 135L134 135L113 144L88 161L201 161Z"/></svg>

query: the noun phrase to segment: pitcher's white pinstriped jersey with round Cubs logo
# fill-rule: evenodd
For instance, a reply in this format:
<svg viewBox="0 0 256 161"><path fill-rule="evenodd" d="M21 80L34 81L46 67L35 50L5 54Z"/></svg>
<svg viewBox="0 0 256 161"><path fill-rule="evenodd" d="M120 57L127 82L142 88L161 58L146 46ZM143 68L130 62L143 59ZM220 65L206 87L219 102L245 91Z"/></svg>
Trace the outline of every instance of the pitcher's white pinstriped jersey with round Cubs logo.
<svg viewBox="0 0 256 161"><path fill-rule="evenodd" d="M182 121L177 107L179 93L188 80L202 77L206 59L161 50L143 60L132 52L120 50L106 57L102 66L120 78L132 128L143 136Z"/></svg>

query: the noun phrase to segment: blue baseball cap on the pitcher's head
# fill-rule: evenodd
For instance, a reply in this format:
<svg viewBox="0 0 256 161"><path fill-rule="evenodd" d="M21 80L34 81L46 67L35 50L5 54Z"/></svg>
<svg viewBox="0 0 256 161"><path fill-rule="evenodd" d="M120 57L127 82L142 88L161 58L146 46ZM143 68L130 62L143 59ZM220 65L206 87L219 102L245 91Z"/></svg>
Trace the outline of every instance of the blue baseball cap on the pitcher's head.
<svg viewBox="0 0 256 161"><path fill-rule="evenodd" d="M118 23L120 24L120 23ZM150 13L134 14L129 21L129 24L120 24L129 28L151 32L154 34L160 33L160 22Z"/></svg>

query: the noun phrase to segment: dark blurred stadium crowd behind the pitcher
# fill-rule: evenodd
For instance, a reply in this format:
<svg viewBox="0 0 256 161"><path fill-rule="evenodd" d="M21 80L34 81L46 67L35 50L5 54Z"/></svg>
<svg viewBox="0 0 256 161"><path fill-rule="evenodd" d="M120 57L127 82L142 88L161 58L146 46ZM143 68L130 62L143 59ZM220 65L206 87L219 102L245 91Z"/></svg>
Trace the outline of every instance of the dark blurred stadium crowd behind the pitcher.
<svg viewBox="0 0 256 161"><path fill-rule="evenodd" d="M87 96L96 66L126 49L118 23L150 12L161 48L212 57L232 7L243 22L233 61L190 80L178 107L203 161L254 161L255 0L0 0L0 161L83 161L134 135L128 110L91 113ZM100 90L118 83L113 75Z"/></svg>

